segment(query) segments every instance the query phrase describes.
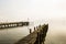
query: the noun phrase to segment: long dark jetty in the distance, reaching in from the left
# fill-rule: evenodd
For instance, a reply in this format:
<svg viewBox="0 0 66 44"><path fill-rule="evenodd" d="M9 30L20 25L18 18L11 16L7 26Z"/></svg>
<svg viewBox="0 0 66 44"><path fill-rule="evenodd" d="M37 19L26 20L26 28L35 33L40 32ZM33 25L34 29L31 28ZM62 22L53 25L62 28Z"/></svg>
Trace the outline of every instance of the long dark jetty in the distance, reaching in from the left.
<svg viewBox="0 0 66 44"><path fill-rule="evenodd" d="M9 22L9 23L0 23L0 29L23 26L23 25L29 25L29 22Z"/></svg>

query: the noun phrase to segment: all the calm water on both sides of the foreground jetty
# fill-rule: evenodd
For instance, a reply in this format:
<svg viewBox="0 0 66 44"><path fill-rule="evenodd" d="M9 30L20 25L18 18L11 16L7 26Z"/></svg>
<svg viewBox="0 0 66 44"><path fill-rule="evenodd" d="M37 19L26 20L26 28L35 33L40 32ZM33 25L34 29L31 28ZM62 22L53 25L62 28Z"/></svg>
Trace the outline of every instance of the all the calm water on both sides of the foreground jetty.
<svg viewBox="0 0 66 44"><path fill-rule="evenodd" d="M45 22L37 21L35 23L33 22L29 26L0 30L0 44L13 44L30 34L29 29L32 29L33 31L34 26L43 23ZM45 44L66 44L66 23L64 23L63 21L50 21Z"/></svg>

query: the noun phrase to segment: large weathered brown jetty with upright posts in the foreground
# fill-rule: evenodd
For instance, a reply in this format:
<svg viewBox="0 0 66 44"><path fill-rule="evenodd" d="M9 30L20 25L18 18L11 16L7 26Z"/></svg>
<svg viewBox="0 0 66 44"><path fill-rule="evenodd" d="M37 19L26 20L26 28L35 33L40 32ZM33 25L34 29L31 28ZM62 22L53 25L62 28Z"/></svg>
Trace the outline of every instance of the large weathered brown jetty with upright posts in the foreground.
<svg viewBox="0 0 66 44"><path fill-rule="evenodd" d="M30 29L30 34L14 44L44 44L47 30L48 24L40 25L36 29L34 28L34 32L31 32Z"/></svg>

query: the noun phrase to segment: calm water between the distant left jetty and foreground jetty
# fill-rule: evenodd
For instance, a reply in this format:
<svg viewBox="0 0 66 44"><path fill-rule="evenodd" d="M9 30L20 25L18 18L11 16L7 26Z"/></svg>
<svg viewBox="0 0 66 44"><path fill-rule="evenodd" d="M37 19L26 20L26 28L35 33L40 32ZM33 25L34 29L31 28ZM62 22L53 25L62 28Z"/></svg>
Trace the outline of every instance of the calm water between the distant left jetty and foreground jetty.
<svg viewBox="0 0 66 44"><path fill-rule="evenodd" d="M34 31L34 26L38 25L40 22L31 22L29 26L19 26L10 29L0 29L0 44L13 44L24 36L30 34L30 30Z"/></svg>

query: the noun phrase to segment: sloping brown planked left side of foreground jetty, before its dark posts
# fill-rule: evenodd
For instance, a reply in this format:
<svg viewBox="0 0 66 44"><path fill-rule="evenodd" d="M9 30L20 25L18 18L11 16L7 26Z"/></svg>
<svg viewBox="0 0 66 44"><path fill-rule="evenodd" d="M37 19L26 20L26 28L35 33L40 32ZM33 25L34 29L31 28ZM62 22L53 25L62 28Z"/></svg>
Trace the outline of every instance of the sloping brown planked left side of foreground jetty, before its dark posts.
<svg viewBox="0 0 66 44"><path fill-rule="evenodd" d="M32 40L31 40L32 38ZM34 44L34 42L36 41L36 31L29 34L28 36L25 36L24 38L20 40L18 43L15 44Z"/></svg>

